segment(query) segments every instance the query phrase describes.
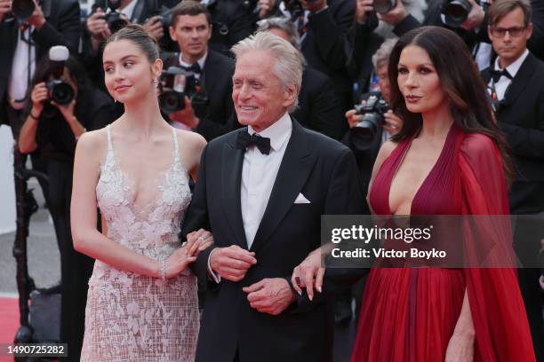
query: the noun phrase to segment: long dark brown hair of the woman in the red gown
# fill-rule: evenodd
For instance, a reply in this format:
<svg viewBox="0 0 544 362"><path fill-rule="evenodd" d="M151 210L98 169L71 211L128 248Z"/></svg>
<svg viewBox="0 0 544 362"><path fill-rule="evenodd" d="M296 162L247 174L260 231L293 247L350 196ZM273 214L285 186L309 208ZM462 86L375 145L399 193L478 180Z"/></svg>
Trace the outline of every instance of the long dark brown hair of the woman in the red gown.
<svg viewBox="0 0 544 362"><path fill-rule="evenodd" d="M398 40L391 52L388 66L391 107L404 120L403 128L391 139L399 142L411 138L420 131L423 123L421 114L413 114L408 110L398 87L398 61L401 52L409 45L427 51L444 93L450 99L450 111L455 125L467 133L482 133L492 138L499 148L505 175L509 180L511 171L507 143L495 122L484 81L470 57L467 45L446 28L413 29Z"/></svg>

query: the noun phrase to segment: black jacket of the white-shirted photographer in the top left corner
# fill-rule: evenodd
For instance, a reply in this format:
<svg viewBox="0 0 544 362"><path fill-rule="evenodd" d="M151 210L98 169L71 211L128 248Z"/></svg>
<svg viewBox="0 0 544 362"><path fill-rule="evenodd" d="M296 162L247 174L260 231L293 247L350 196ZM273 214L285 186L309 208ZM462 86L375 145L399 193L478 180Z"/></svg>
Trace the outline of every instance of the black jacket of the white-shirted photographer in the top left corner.
<svg viewBox="0 0 544 362"><path fill-rule="evenodd" d="M36 43L36 62L41 59L53 45L65 45L72 54L77 53L81 25L79 20L79 3L77 0L43 0L39 2L44 12L45 24L39 31L31 34ZM0 118L4 121L7 89L12 72L13 54L19 37L19 24L13 18L0 22ZM26 80L24 80L26 82Z"/></svg>

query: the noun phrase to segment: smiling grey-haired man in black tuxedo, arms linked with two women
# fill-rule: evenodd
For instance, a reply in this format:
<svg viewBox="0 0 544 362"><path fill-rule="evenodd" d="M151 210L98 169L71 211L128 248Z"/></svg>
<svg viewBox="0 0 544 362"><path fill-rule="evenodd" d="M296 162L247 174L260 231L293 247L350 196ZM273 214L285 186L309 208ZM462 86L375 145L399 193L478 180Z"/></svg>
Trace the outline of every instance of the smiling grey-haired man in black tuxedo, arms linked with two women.
<svg viewBox="0 0 544 362"><path fill-rule="evenodd" d="M193 264L208 283L196 361L331 361L328 293L339 279L325 275L313 303L290 279L320 244L321 215L362 211L356 161L289 116L302 76L290 43L261 32L233 51L233 100L247 127L204 149L181 232L211 230L215 242Z"/></svg>

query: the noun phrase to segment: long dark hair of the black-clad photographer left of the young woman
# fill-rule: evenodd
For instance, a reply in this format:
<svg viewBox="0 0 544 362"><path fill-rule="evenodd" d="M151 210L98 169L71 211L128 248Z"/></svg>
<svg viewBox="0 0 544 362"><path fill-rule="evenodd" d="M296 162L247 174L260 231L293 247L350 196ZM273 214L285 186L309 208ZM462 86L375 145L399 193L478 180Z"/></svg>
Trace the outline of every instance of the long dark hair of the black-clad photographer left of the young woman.
<svg viewBox="0 0 544 362"><path fill-rule="evenodd" d="M64 67L68 69L70 78L76 83L77 96L76 96L76 108L74 112L78 115L84 115L92 108L92 83L87 76L87 71L74 57L70 56L64 63ZM30 109L32 107L32 101L30 100L30 93L37 83L45 82L49 80L52 67L51 60L47 54L39 60L36 64L36 72L32 77L32 83L28 87L28 103Z"/></svg>

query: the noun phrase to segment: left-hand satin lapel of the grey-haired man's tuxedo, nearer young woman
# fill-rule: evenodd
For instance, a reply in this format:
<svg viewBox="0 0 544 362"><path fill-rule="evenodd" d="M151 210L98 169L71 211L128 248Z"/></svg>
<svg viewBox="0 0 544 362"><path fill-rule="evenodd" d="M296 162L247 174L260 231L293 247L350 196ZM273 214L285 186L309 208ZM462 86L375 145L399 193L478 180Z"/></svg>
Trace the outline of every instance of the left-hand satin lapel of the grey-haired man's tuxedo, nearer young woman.
<svg viewBox="0 0 544 362"><path fill-rule="evenodd" d="M246 131L245 129L243 131ZM236 139L233 138L233 139ZM234 142L223 145L221 160L222 177L222 204L228 224L235 233L237 245L247 248L245 240L244 222L242 221L242 205L240 198L240 183L242 181L242 165L244 150L237 149Z"/></svg>

